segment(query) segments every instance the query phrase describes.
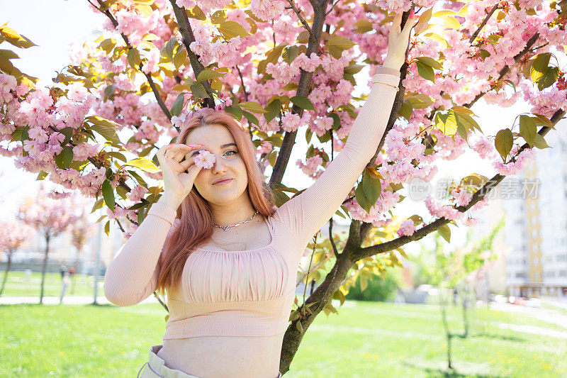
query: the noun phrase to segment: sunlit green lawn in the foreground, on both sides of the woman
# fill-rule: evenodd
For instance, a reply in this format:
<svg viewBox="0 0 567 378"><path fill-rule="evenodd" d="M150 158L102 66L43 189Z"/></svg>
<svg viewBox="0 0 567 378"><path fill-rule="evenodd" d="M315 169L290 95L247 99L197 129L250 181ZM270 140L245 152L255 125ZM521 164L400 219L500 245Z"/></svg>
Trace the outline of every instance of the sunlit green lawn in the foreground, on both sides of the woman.
<svg viewBox="0 0 567 378"><path fill-rule="evenodd" d="M162 343L164 316L159 304L0 306L0 377L135 377L150 346ZM454 340L455 369L446 374L437 306L347 301L338 315L315 319L286 376L567 376L565 338L499 327L556 326L485 308L472 321L471 335ZM459 308L449 308L449 325L461 330Z"/></svg>

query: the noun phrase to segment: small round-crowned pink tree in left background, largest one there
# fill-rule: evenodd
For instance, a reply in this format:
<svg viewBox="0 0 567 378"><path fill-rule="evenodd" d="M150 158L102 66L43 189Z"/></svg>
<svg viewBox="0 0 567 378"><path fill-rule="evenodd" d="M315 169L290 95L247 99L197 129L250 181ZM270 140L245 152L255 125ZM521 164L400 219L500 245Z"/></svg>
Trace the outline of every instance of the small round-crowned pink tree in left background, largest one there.
<svg viewBox="0 0 567 378"><path fill-rule="evenodd" d="M79 220L77 199L69 196L45 191L40 187L35 198L26 198L18 208L17 218L24 224L35 229L45 238L45 252L41 270L40 304L43 304L43 287L45 270L50 252L50 241L64 231L72 230L74 223Z"/></svg>

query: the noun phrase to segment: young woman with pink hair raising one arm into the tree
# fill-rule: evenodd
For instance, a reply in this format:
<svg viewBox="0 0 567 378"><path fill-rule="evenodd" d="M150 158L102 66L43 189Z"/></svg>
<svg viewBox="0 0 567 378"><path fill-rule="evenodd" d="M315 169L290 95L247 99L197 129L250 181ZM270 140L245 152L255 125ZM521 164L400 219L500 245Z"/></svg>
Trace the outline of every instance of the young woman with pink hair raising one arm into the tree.
<svg viewBox="0 0 567 378"><path fill-rule="evenodd" d="M141 377L281 377L303 252L374 156L390 116L415 25L410 19L400 30L400 20L396 14L388 57L344 148L279 208L247 130L223 111L202 109L181 128L178 144L159 149L164 194L104 280L104 294L118 306L167 289L163 344L152 345ZM193 162L201 148L215 156L210 169Z"/></svg>

